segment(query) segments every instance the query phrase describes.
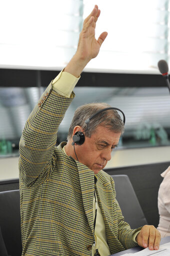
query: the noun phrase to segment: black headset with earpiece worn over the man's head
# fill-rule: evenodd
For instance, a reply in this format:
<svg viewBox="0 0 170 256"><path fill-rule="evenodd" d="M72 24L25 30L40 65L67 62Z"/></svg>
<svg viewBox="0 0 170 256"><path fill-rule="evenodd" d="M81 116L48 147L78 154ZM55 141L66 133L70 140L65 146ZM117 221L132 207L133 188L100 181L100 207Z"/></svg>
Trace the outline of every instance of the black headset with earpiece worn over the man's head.
<svg viewBox="0 0 170 256"><path fill-rule="evenodd" d="M93 114L91 117L89 117L88 119L85 120L85 124L87 125L87 128L88 129L88 123L91 119L93 119L95 116L97 116L98 114L100 114L101 112L103 111L106 111L106 110L109 110L109 109L114 109L114 110L118 110L122 113L123 115L123 124L125 124L125 115L124 113L122 112L122 110L118 109L118 108L112 108L112 107L109 107L109 108L104 108L104 109L101 109L99 111L97 111L95 114ZM84 125L85 125L84 124ZM81 128L82 129L82 128ZM78 132L75 132L75 134L72 136L72 145L74 146L74 144L77 144L77 145L82 145L84 143L84 140L85 140L85 136L84 134L80 131Z"/></svg>

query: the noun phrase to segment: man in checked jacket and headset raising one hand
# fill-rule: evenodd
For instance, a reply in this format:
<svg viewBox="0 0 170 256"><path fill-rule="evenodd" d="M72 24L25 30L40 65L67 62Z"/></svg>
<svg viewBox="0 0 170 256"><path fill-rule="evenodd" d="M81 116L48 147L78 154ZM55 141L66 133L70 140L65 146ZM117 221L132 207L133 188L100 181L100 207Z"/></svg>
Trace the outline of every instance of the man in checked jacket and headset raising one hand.
<svg viewBox="0 0 170 256"><path fill-rule="evenodd" d="M153 226L131 229L124 221L114 181L102 170L123 132L115 110L103 111L109 107L104 103L81 106L75 111L68 141L55 146L58 126L74 98L72 90L80 73L98 55L107 36L103 32L95 39L99 15L95 6L84 20L75 55L42 94L22 132L22 255L108 256L137 244L159 247L160 234ZM75 133L77 137L81 133L79 144L73 139Z"/></svg>

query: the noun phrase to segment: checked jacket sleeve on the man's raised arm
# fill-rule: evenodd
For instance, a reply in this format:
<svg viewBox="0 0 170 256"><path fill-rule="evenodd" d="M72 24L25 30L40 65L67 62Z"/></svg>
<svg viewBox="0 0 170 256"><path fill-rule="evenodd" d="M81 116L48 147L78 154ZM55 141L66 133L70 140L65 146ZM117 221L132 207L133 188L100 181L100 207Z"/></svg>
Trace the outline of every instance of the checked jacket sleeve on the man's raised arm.
<svg viewBox="0 0 170 256"><path fill-rule="evenodd" d="M74 93L70 98L59 95L50 83L29 115L19 142L19 177L26 186L45 179L58 126L73 98Z"/></svg>

